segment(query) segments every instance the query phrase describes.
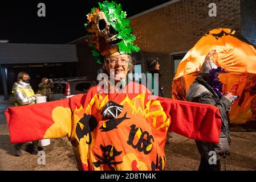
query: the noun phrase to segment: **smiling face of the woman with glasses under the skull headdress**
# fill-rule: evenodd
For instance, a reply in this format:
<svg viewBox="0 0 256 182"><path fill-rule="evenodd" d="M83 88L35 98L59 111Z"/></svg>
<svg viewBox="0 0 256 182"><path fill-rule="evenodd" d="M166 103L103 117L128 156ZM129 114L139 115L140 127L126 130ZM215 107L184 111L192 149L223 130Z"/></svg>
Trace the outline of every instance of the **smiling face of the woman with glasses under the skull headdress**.
<svg viewBox="0 0 256 182"><path fill-rule="evenodd" d="M110 57L107 59L109 73L112 71L112 74L114 72L113 75L115 75L116 78L125 78L128 73L129 61L128 55Z"/></svg>

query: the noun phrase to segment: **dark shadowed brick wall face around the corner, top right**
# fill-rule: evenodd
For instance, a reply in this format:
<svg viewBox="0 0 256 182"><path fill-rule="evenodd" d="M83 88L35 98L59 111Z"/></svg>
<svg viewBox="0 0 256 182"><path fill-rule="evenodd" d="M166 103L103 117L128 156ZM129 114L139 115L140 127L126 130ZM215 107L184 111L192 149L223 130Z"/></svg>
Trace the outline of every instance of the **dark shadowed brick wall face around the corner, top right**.
<svg viewBox="0 0 256 182"><path fill-rule="evenodd" d="M256 1L241 0L242 34L256 45Z"/></svg>

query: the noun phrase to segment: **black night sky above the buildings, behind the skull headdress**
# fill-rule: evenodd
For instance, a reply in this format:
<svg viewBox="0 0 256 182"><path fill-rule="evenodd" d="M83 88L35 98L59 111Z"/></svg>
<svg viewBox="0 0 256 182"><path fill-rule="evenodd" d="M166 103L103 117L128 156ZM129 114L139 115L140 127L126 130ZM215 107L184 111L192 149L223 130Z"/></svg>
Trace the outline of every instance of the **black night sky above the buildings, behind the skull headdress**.
<svg viewBox="0 0 256 182"><path fill-rule="evenodd" d="M37 15L38 3L46 5L46 17ZM103 1L1 1L0 40L10 43L65 44L86 34L87 13ZM127 17L168 0L117 0ZM139 3L138 3L139 2Z"/></svg>

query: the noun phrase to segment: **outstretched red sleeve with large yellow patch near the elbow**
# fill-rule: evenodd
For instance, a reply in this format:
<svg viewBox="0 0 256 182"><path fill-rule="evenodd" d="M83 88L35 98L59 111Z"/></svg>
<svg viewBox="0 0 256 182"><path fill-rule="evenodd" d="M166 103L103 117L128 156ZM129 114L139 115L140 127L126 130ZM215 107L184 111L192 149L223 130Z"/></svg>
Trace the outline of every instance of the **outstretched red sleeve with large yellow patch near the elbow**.
<svg viewBox="0 0 256 182"><path fill-rule="evenodd" d="M5 111L11 143L60 138L71 133L70 100L8 107Z"/></svg>

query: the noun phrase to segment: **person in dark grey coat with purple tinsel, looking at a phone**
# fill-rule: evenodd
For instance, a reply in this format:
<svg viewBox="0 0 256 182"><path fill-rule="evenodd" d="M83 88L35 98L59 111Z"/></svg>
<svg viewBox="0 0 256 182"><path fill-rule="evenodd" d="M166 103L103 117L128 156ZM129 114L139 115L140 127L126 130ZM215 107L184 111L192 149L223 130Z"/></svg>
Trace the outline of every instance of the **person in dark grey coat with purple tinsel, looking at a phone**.
<svg viewBox="0 0 256 182"><path fill-rule="evenodd" d="M231 98L234 97L227 92L222 96L222 83L219 81L218 75L225 73L224 69L217 67L212 61L217 52L211 51L206 56L204 64L196 80L190 86L186 94L186 100L190 102L199 102L202 104L210 104L217 106L220 109L222 117L220 143L201 142L196 140L197 149L201 155L201 162L198 168L199 171L220 171L221 157L229 154L230 136L229 136L229 115ZM211 163L211 151L216 152L216 162Z"/></svg>

